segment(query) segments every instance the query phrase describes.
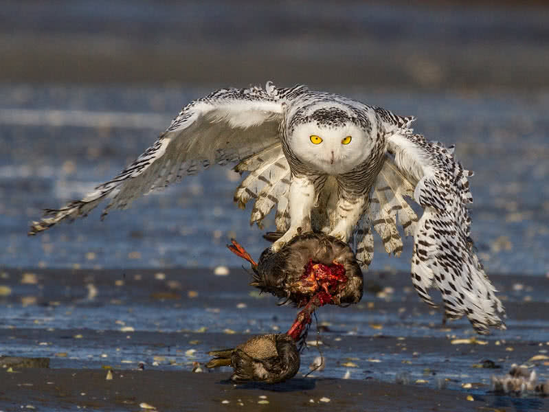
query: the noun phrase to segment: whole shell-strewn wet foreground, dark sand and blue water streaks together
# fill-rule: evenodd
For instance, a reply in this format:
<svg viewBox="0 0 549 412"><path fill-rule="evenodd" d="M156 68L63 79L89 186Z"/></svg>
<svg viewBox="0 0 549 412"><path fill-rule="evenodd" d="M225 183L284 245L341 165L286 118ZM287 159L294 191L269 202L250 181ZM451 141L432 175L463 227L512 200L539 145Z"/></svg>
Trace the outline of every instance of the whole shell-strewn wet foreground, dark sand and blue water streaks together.
<svg viewBox="0 0 549 412"><path fill-rule="evenodd" d="M229 368L191 370L197 363L203 368L209 350L286 330L297 312L260 297L241 268L226 276L208 269L0 274L0 355L50 359L50 369L0 370L2 411L27 404L38 410L135 411L141 402L161 411L549 408L546 398L497 396L490 385L491 375L506 373L512 363L535 367L540 380L549 377L544 277L491 275L506 305L508 330L477 336L464 320L442 325L441 313L418 300L407 274L366 273L370 292L360 304L317 310L295 378L273 386L235 386L227 380ZM320 353L326 368L306 377ZM480 367L485 360L498 369ZM136 370L140 362L144 371ZM105 368L113 369L113 380L105 380ZM261 400L269 403L258 404Z"/></svg>

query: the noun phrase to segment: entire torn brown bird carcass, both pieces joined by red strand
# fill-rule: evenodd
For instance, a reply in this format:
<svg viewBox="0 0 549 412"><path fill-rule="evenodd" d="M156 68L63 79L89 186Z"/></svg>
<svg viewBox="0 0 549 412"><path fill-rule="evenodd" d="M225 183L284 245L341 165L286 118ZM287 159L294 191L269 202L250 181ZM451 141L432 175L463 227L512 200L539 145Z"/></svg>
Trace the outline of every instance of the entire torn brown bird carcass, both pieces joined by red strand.
<svg viewBox="0 0 549 412"><path fill-rule="evenodd" d="M209 352L206 367L231 366L234 381L282 382L300 368L300 350L311 315L325 304L356 304L362 297L363 278L350 247L324 233L303 233L278 252L266 249L258 263L232 240L229 249L251 264L251 286L303 308L285 334L255 336L234 349Z"/></svg>

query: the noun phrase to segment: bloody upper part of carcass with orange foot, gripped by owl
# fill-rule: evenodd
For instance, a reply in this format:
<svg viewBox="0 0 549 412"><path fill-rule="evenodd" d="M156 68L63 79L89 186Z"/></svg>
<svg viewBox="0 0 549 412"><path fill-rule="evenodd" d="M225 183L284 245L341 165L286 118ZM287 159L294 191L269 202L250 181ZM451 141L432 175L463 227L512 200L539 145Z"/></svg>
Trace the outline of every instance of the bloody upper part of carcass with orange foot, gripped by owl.
<svg viewBox="0 0 549 412"><path fill-rule="evenodd" d="M362 297L363 277L348 244L325 233L295 236L278 252L265 249L256 263L232 240L229 249L251 264L252 286L304 308L287 332L296 341L311 323L311 314L325 304L356 304Z"/></svg>

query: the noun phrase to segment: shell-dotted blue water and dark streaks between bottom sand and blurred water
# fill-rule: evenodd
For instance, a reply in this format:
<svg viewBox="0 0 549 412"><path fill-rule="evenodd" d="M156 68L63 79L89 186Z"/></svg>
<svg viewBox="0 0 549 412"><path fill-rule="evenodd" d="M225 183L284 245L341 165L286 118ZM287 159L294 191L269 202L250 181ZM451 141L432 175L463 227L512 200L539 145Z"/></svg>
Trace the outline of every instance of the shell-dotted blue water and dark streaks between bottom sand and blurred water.
<svg viewBox="0 0 549 412"><path fill-rule="evenodd" d="M277 308L277 299L258 295L248 281L238 268L227 276L195 269L5 271L1 283L10 293L0 297L2 351L48 357L53 368L135 369L142 362L147 370L190 370L193 362L208 361L210 350L234 347L254 334L284 332L293 322L295 308ZM407 275L371 274L370 282L383 293L366 292L348 308L317 310L299 376L324 356L324 370L313 376L475 395L488 393L491 375L506 373L512 363L537 367L540 379L549 378L547 361L528 361L549 350L546 279L493 277L508 330L469 343L456 341L475 338L469 323L442 325L441 312L418 300ZM486 359L500 369L475 367ZM220 378L229 372L212 371Z"/></svg>

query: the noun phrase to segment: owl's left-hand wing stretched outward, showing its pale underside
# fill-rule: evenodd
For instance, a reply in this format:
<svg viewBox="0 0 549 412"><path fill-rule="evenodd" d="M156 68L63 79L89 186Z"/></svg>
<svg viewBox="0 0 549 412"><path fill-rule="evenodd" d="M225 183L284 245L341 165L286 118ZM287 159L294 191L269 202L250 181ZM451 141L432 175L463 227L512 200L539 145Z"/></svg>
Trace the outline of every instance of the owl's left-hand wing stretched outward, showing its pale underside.
<svg viewBox="0 0 549 412"><path fill-rule="evenodd" d="M102 217L110 209L128 207L142 194L166 187L211 164L234 163L267 148L280 147L282 107L278 90L270 82L265 89L221 89L191 102L155 144L120 174L79 201L60 209L46 209L40 221L32 222L29 234L63 220L86 216L109 196L112 200Z"/></svg>

